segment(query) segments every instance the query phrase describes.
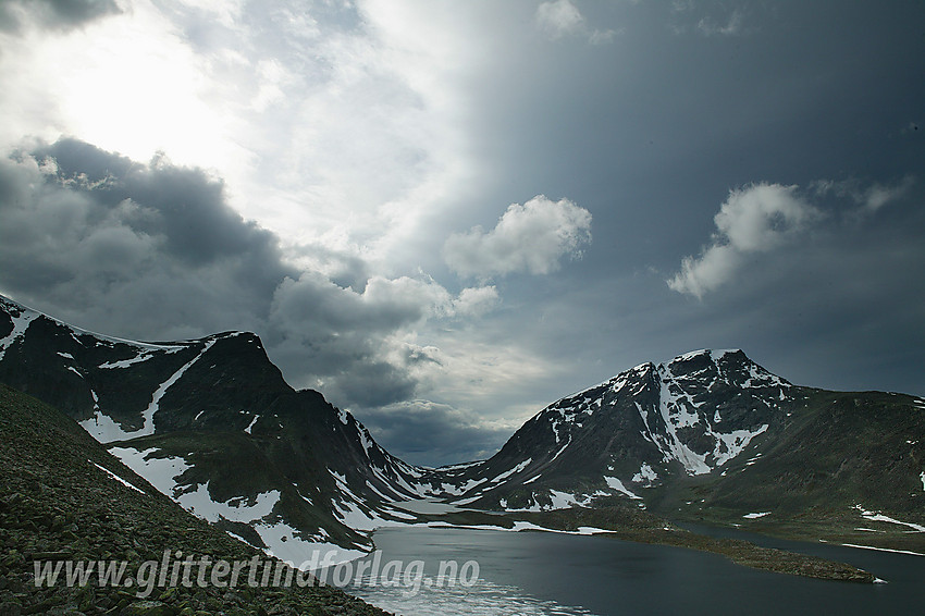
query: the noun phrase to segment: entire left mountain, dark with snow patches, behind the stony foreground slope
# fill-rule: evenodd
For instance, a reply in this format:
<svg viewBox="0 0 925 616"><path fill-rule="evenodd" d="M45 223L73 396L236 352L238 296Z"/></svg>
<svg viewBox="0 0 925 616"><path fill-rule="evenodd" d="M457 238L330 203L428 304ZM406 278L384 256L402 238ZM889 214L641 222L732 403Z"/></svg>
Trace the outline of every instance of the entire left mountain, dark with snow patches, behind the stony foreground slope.
<svg viewBox="0 0 925 616"><path fill-rule="evenodd" d="M349 412L295 391L251 333L143 343L0 298L0 381L73 417L188 509L283 557L318 543L371 547L408 516L421 469Z"/></svg>

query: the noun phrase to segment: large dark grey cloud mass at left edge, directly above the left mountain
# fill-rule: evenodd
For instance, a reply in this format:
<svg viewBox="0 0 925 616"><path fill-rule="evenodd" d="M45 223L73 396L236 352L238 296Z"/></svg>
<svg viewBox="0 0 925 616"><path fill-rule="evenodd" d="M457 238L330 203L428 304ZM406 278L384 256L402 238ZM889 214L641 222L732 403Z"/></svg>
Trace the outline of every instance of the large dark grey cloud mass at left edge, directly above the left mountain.
<svg viewBox="0 0 925 616"><path fill-rule="evenodd" d="M4 288L110 333L254 328L294 275L202 171L73 139L0 164L0 217Z"/></svg>

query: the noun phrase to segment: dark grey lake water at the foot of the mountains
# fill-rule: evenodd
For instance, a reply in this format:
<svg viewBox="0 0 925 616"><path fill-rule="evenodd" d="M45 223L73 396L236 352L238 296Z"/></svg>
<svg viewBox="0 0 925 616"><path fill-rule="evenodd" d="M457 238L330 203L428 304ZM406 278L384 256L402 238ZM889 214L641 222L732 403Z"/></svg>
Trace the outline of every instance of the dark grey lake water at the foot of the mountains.
<svg viewBox="0 0 925 616"><path fill-rule="evenodd" d="M371 588L368 583L348 590L408 616L925 613L923 556L737 537L848 562L887 583L854 584L764 572L714 554L603 537L394 528L374 535L382 552L380 565L402 560L407 574L409 563L423 562L422 568L410 571L407 579L412 581L416 572L418 579L435 579L441 560L456 560L460 567L476 560L478 581L457 578L454 587L440 584L442 588L418 584L416 593L404 587ZM471 575L472 566L465 572ZM466 581L474 583L464 586Z"/></svg>

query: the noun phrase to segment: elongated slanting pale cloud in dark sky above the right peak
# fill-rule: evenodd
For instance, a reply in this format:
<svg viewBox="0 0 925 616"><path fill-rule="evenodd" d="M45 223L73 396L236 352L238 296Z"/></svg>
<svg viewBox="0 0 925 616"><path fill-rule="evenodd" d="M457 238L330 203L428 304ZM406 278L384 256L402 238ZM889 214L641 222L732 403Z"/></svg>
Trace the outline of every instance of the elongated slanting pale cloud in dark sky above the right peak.
<svg viewBox="0 0 925 616"><path fill-rule="evenodd" d="M748 254L767 252L790 242L818 210L797 194L797 186L754 184L729 193L714 217L717 232L700 257L684 257L668 281L678 293L703 297L728 282Z"/></svg>

